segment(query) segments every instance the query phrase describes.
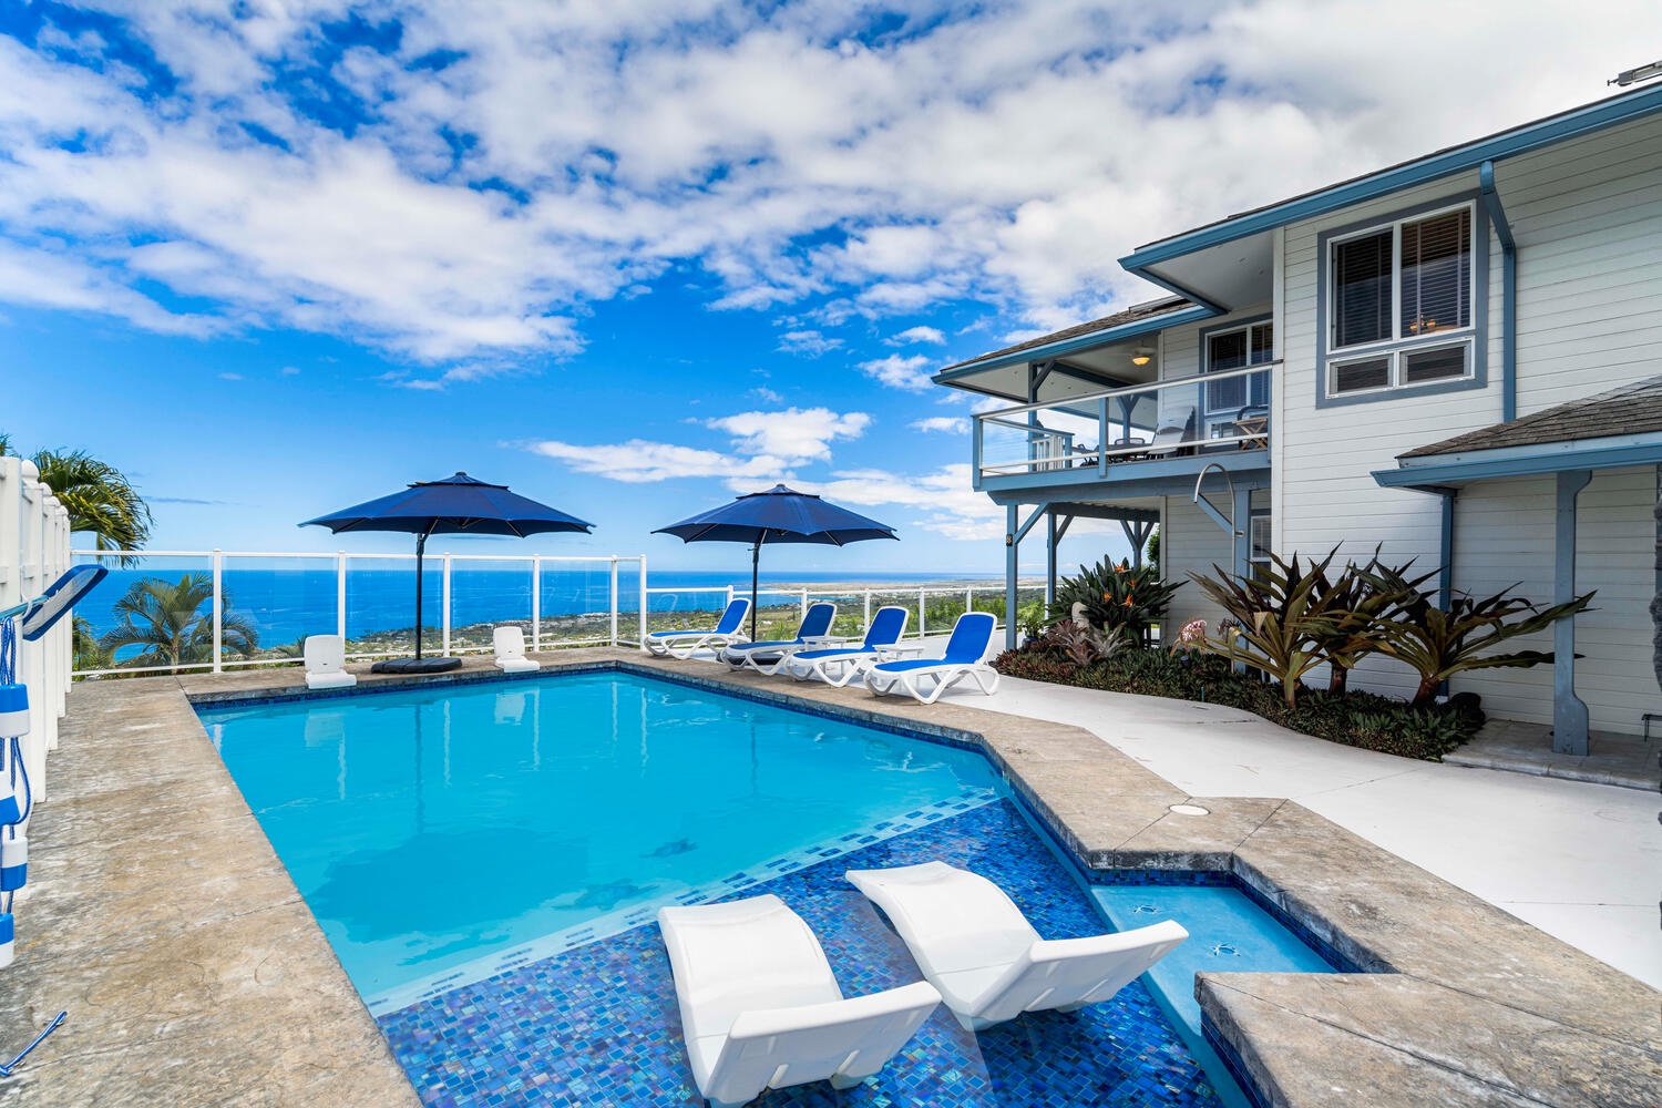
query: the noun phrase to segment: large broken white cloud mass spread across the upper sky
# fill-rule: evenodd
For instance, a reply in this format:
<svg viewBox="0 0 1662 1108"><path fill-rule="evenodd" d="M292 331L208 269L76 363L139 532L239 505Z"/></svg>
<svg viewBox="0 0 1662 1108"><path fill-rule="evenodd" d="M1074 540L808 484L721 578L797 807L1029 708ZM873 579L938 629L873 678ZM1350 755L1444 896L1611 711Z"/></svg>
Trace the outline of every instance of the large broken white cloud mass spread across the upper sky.
<svg viewBox="0 0 1662 1108"><path fill-rule="evenodd" d="M861 45L869 10L829 0L80 7L176 88L50 12L61 53L0 37L0 301L425 362L575 352L585 304L683 262L733 309L1075 322L1147 296L1114 262L1140 241L1602 96L1655 27L1650 0L1012 0L901 5ZM324 51L347 12L397 45ZM294 66L364 118L306 115Z"/></svg>

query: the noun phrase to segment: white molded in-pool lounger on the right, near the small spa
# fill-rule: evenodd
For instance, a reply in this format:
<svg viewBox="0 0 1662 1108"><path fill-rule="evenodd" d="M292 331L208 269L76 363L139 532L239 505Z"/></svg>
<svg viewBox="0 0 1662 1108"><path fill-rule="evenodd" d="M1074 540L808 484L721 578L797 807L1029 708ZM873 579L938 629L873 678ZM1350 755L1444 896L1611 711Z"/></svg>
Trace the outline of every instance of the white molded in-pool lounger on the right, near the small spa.
<svg viewBox="0 0 1662 1108"><path fill-rule="evenodd" d="M1022 1012L1102 1003L1188 939L1175 920L1092 939L1040 939L1002 889L946 862L851 869L848 879L883 909L971 1032Z"/></svg>

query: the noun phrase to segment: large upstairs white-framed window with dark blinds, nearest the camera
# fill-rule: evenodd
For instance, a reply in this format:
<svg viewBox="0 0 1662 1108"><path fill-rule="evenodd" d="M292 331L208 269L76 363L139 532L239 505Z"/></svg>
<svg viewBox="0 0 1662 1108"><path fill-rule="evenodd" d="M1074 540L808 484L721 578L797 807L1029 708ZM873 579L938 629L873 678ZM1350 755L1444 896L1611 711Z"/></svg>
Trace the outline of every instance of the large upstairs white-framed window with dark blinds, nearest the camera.
<svg viewBox="0 0 1662 1108"><path fill-rule="evenodd" d="M1348 234L1328 249L1330 395L1473 375L1471 204Z"/></svg>

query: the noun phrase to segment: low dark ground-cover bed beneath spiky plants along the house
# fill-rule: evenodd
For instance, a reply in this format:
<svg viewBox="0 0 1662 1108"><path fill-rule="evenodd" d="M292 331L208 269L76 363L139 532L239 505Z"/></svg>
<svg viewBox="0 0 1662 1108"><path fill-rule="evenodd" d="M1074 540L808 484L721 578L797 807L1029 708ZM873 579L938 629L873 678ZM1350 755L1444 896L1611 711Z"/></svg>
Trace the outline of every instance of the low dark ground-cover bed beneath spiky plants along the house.
<svg viewBox="0 0 1662 1108"><path fill-rule="evenodd" d="M1288 708L1278 683L1260 679L1253 673L1235 673L1227 659L1212 655L1182 656L1130 648L1079 664L1057 658L1044 646L1027 645L999 655L992 666L1006 676L1029 681L1243 708L1320 739L1426 761L1441 761L1483 726L1483 711L1474 696L1414 708L1406 701L1358 689L1303 689L1296 704Z"/></svg>

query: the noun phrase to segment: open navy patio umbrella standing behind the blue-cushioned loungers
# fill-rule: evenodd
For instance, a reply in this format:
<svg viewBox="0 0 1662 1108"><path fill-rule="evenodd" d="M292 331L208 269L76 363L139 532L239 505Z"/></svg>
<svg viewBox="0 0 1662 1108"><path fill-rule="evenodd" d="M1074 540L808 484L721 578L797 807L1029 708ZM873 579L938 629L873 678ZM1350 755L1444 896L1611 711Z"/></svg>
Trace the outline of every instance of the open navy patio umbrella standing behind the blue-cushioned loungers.
<svg viewBox="0 0 1662 1108"><path fill-rule="evenodd" d="M868 520L813 493L774 485L743 495L690 520L660 527L690 543L750 543L750 638L756 638L756 570L763 543L821 543L846 547L866 538L897 538L892 527Z"/></svg>

